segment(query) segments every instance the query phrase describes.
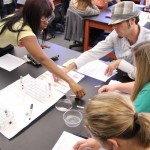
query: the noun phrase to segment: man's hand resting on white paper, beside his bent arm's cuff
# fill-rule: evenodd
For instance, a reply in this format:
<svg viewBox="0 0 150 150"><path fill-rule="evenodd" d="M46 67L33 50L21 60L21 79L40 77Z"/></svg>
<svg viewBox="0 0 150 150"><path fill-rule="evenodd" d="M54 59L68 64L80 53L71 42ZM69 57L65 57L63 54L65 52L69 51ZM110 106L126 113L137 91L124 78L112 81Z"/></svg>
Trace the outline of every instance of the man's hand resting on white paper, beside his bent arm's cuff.
<svg viewBox="0 0 150 150"><path fill-rule="evenodd" d="M112 73L113 73L113 71L118 68L118 66L119 66L119 64L120 64L120 61L121 61L121 60L118 59L118 60L116 60L116 61L114 61L114 62L111 62L111 63L109 64L109 66L107 67L106 71L105 71L105 75L111 76Z"/></svg>

